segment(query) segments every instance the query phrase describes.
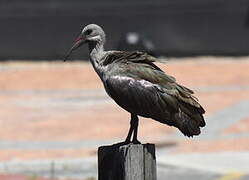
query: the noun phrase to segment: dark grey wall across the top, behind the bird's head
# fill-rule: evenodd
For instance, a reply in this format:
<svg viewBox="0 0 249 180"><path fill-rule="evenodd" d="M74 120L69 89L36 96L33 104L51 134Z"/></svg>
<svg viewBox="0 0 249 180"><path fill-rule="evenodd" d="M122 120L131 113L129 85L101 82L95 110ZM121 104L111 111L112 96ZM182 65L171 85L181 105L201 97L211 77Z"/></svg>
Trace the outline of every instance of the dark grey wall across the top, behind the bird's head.
<svg viewBox="0 0 249 180"><path fill-rule="evenodd" d="M0 59L61 59L89 23L108 49L135 31L160 55L249 54L249 0L1 0Z"/></svg>

